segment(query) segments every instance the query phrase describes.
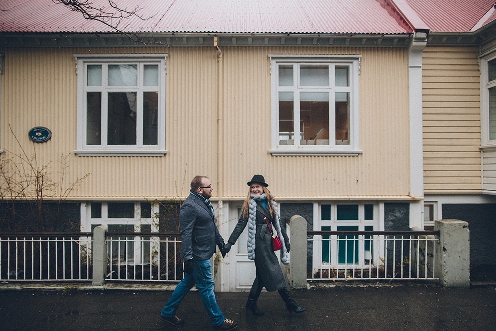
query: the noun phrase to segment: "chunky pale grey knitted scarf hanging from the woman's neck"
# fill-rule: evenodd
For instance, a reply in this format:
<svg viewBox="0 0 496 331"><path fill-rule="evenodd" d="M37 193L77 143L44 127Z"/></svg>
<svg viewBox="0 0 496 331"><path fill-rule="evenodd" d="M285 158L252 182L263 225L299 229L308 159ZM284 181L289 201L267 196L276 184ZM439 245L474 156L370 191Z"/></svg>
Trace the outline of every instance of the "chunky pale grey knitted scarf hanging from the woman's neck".
<svg viewBox="0 0 496 331"><path fill-rule="evenodd" d="M261 195L250 194L250 201L248 206L248 240L247 240L247 250L248 259L255 260L255 237L256 237L256 204L267 199L267 195L262 193ZM270 201L275 210L274 215L274 227L277 232L277 237L281 241L281 261L283 264L289 264L289 254L286 250L286 243L284 242L284 237L281 232L281 225L279 224L279 211L277 209L277 203L273 200ZM268 209L268 208L267 208Z"/></svg>

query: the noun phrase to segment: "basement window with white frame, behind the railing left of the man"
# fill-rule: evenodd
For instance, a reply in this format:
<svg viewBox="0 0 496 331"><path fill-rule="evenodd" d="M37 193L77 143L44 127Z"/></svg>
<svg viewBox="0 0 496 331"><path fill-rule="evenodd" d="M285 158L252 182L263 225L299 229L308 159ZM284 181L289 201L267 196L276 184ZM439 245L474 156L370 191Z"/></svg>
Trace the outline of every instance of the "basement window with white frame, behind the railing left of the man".
<svg viewBox="0 0 496 331"><path fill-rule="evenodd" d="M109 233L158 232L159 207L150 202L91 202L81 205L81 231L91 231L106 224ZM84 216L86 215L86 216ZM150 262L149 238L109 237L107 250L113 262L142 264Z"/></svg>

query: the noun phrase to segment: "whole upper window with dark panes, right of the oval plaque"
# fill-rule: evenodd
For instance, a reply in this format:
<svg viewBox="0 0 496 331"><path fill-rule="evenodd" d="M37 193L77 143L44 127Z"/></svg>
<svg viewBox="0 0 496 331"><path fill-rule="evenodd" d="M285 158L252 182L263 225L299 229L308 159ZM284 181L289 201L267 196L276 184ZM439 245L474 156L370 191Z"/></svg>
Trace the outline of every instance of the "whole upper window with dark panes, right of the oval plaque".
<svg viewBox="0 0 496 331"><path fill-rule="evenodd" d="M166 154L165 58L77 56L78 155Z"/></svg>

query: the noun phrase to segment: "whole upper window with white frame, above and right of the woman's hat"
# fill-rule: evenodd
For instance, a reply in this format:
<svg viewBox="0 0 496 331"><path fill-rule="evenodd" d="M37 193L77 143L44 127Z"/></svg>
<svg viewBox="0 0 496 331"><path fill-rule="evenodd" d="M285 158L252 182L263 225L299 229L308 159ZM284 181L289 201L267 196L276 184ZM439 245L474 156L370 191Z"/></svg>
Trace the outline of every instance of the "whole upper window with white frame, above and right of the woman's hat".
<svg viewBox="0 0 496 331"><path fill-rule="evenodd" d="M273 155L360 153L359 60L271 55Z"/></svg>

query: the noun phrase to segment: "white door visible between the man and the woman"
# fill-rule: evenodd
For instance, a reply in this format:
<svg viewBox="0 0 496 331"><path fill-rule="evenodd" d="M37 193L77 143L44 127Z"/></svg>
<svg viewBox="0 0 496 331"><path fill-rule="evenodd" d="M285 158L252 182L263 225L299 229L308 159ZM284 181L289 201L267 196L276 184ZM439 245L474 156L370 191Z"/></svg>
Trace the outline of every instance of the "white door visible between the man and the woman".
<svg viewBox="0 0 496 331"><path fill-rule="evenodd" d="M233 205L229 210L229 234L231 234L238 223L241 205ZM249 291L255 280L255 262L248 259L247 239L248 225L226 256L229 269L229 291Z"/></svg>

